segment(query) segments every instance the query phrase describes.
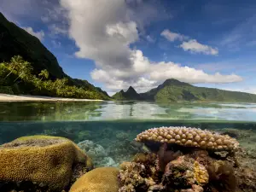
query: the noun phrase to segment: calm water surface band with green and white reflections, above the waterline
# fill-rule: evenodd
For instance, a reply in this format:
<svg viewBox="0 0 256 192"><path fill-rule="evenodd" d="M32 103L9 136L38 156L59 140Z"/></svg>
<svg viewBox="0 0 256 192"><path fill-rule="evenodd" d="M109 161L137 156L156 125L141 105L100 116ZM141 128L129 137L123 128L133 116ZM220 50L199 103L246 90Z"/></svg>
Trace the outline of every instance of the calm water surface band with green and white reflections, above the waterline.
<svg viewBox="0 0 256 192"><path fill-rule="evenodd" d="M116 119L256 121L256 104L157 102L1 102L1 121Z"/></svg>

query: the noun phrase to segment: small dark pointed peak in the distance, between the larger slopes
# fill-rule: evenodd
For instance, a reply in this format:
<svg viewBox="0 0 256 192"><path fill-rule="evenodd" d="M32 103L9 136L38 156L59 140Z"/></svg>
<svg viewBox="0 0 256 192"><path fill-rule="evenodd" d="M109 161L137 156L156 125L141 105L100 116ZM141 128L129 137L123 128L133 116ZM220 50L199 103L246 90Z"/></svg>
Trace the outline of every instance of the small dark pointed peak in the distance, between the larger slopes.
<svg viewBox="0 0 256 192"><path fill-rule="evenodd" d="M124 101L124 100L129 100L129 101L139 101L142 100L140 94L137 93L136 90L133 89L133 87L129 87L128 90L120 90L116 94L114 94L113 99L119 100L119 101Z"/></svg>

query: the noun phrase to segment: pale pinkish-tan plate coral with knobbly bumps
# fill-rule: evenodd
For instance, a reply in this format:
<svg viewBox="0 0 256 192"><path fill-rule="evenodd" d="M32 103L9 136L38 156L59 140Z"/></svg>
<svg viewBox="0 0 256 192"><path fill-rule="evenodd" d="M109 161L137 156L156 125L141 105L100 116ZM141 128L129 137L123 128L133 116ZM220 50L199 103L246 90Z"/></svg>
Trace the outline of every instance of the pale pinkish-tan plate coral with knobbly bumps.
<svg viewBox="0 0 256 192"><path fill-rule="evenodd" d="M211 131L187 127L152 128L137 135L137 142L175 143L182 146L212 150L235 150L236 139Z"/></svg>

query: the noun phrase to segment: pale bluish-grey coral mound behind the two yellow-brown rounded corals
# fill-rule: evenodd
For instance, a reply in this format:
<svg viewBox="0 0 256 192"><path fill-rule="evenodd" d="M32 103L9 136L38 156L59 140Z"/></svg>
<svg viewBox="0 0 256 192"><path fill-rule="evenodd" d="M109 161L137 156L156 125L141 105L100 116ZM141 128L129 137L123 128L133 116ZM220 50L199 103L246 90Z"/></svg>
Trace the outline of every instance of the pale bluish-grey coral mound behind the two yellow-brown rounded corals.
<svg viewBox="0 0 256 192"><path fill-rule="evenodd" d="M119 166L111 157L108 156L102 145L85 140L78 143L81 148L94 162L94 166Z"/></svg>

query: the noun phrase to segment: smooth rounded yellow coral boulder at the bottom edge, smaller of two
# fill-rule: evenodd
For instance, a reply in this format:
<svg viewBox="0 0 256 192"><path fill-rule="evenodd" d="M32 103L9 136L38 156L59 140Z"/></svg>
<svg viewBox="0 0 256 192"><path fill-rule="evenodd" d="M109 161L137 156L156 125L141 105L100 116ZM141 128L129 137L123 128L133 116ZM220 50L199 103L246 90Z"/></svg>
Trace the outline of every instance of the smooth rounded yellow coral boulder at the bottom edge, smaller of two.
<svg viewBox="0 0 256 192"><path fill-rule="evenodd" d="M117 192L119 169L99 167L80 177L69 192Z"/></svg>

